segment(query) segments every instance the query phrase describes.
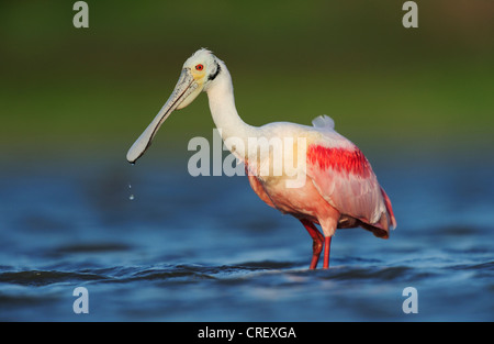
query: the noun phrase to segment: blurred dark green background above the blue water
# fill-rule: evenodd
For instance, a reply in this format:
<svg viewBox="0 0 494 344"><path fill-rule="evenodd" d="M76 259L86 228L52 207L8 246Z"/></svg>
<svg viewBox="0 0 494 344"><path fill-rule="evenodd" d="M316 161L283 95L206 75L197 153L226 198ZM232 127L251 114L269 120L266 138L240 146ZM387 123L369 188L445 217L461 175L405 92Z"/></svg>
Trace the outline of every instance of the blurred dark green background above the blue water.
<svg viewBox="0 0 494 344"><path fill-rule="evenodd" d="M418 29L403 2L87 1L76 29L75 1L2 1L0 154L124 159L200 47L225 60L250 124L328 114L364 152L491 148L494 1L416 1ZM202 96L153 154L212 127Z"/></svg>

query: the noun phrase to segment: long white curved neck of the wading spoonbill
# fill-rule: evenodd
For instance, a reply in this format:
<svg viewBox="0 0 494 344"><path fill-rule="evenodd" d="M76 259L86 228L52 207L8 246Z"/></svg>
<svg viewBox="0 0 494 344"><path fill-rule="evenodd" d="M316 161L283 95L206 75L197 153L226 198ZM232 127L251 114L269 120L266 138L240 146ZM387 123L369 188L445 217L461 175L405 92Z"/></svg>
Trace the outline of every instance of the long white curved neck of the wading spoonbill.
<svg viewBox="0 0 494 344"><path fill-rule="evenodd" d="M211 114L225 146L238 158L246 160L248 138L255 137L258 129L245 123L238 115L232 77L225 64L221 64L221 68L222 73L206 90Z"/></svg>

